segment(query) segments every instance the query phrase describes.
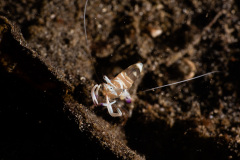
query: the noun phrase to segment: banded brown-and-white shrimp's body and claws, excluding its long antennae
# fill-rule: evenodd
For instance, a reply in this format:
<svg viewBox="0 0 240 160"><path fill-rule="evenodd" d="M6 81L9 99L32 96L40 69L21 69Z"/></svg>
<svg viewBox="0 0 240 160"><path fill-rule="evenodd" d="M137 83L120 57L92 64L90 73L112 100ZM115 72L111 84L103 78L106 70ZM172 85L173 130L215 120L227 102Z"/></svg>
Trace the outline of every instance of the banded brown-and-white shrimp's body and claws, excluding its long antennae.
<svg viewBox="0 0 240 160"><path fill-rule="evenodd" d="M110 80L107 76L103 76L103 79L106 83L96 84L92 90L92 100L95 105L98 105L98 95L99 89L102 88L102 94L106 97L106 103L101 103L101 105L106 106L109 114L112 117L122 116L122 112L117 108L117 113L113 112L112 105L116 103L116 100L110 102L110 100L120 98L125 100L127 103L131 103L132 99L128 92L128 89L131 88L133 82L138 78L142 72L143 64L138 62L129 66L127 69L119 73L115 78Z"/></svg>

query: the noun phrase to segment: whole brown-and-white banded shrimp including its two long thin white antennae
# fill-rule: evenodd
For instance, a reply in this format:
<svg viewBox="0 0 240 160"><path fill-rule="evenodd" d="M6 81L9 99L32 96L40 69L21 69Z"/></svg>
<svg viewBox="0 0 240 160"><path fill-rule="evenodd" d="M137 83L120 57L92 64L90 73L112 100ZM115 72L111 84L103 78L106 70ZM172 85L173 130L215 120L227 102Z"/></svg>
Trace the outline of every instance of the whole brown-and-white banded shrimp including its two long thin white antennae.
<svg viewBox="0 0 240 160"><path fill-rule="evenodd" d="M86 22L85 22L87 3L88 3L88 0L86 0L85 8L84 8L84 31L85 31L86 44L88 47L87 30L86 30ZM90 57L92 58L91 54L90 54ZM116 100L115 100L116 98L120 98L121 100L126 100L127 103L131 103L132 99L131 99L131 96L130 96L128 90L131 88L133 82L139 77L140 73L142 72L142 68L143 68L143 64L141 62L138 62L136 64L129 66L127 69L125 69L124 71L119 73L112 80L110 80L107 76L104 76L103 79L106 81L106 83L96 84L91 90L91 96L92 96L93 103L95 105L99 104L97 99L99 97L100 88L102 87L101 93L103 96L105 96L106 103L100 103L100 104L107 107L108 112L112 117L122 116L122 112L119 108L117 108L117 113L114 113L112 105L116 103ZM147 89L142 92L153 91L153 90L160 89L163 87L167 87L167 86L171 86L171 85L175 85L175 84L179 84L179 83L184 83L184 82L191 81L193 79L197 79L200 77L204 77L209 74L216 73L216 72L219 72L219 71L205 73L205 74L202 74L202 75L190 78L190 79L186 79L183 81L178 81L175 83ZM113 100L113 101L110 102L111 100Z"/></svg>

